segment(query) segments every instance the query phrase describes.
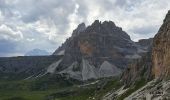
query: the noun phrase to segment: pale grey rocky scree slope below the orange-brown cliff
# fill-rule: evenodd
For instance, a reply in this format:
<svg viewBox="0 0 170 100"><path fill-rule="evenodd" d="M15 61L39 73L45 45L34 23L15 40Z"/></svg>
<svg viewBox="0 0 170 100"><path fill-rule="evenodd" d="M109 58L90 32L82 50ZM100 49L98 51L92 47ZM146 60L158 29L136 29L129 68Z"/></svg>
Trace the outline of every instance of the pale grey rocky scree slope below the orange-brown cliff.
<svg viewBox="0 0 170 100"><path fill-rule="evenodd" d="M125 100L169 100L170 99L170 81L157 82L153 80L144 87L135 91L125 98Z"/></svg>

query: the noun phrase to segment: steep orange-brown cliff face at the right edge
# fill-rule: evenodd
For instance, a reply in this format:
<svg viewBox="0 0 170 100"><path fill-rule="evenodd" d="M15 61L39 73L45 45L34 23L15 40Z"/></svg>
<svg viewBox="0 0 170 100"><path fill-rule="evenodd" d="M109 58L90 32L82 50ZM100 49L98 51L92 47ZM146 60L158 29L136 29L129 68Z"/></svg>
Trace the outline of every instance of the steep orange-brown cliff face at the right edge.
<svg viewBox="0 0 170 100"><path fill-rule="evenodd" d="M170 11L154 37L152 50L152 73L155 78L166 79L170 75Z"/></svg>

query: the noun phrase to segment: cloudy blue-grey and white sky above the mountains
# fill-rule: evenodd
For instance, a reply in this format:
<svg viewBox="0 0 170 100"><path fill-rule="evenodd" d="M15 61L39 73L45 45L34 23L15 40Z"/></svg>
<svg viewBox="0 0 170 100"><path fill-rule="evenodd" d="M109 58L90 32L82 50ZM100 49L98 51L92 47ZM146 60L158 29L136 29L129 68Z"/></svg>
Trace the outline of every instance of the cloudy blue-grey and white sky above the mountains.
<svg viewBox="0 0 170 100"><path fill-rule="evenodd" d="M137 41L153 37L169 0L0 0L0 56L54 52L84 22L111 20Z"/></svg>

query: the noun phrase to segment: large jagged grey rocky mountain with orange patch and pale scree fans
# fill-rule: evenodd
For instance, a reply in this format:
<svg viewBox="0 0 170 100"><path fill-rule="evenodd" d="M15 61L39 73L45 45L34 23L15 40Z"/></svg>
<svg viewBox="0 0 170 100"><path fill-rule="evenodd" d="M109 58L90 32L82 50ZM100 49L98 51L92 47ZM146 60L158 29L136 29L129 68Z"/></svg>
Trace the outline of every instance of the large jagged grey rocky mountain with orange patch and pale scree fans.
<svg viewBox="0 0 170 100"><path fill-rule="evenodd" d="M53 53L63 58L56 63L55 71L50 72L79 80L120 75L127 64L140 58L143 52L146 46L133 42L112 21L96 20L88 27L82 23Z"/></svg>

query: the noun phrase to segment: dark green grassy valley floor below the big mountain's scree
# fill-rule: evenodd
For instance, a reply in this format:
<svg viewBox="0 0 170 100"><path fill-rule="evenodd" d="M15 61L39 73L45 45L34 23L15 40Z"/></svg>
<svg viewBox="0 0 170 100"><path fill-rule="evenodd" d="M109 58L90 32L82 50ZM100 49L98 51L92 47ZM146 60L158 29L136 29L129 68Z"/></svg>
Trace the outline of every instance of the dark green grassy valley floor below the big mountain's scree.
<svg viewBox="0 0 170 100"><path fill-rule="evenodd" d="M120 83L115 79L100 80L97 84L79 87L75 80L44 77L35 80L1 81L0 100L99 100ZM74 83L74 84L73 84ZM104 84L104 85L103 85Z"/></svg>

